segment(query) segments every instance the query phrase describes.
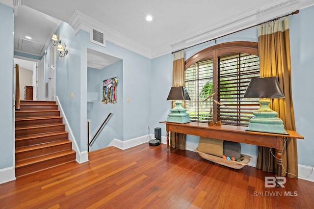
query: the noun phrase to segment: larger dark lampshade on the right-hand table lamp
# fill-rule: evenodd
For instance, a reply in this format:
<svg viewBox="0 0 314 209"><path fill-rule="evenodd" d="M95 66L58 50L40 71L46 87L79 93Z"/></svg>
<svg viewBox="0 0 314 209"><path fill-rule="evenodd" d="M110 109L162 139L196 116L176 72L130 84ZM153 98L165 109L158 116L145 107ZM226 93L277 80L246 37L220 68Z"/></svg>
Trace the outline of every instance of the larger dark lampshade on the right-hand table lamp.
<svg viewBox="0 0 314 209"><path fill-rule="evenodd" d="M252 78L244 98L285 98L276 77Z"/></svg>

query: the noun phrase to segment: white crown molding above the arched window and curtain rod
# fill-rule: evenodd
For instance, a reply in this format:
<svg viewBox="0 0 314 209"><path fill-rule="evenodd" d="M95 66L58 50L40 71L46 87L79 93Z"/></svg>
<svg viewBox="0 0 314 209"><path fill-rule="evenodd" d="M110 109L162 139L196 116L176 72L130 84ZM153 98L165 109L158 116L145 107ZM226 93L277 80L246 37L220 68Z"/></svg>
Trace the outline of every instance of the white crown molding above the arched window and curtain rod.
<svg viewBox="0 0 314 209"><path fill-rule="evenodd" d="M169 46L164 44L163 46L152 49L152 57L168 53L169 49L178 51L312 5L314 5L313 0L272 1L174 40Z"/></svg>

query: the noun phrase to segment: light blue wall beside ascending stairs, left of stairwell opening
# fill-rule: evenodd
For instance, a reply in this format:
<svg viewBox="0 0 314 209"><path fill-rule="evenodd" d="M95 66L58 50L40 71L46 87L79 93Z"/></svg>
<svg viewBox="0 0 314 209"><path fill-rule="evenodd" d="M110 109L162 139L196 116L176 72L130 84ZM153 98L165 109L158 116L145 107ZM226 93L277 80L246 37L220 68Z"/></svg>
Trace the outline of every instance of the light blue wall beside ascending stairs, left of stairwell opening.
<svg viewBox="0 0 314 209"><path fill-rule="evenodd" d="M78 147L82 152L87 150L87 132L84 136L81 135L81 118L84 117L84 115L86 124L85 126L87 126L87 122L86 109L85 111L82 111L82 106L84 104L81 103L81 97L84 96L84 92L81 92L80 36L76 36L74 33L74 29L64 22L60 24L55 33L59 35L61 42L66 44L66 47L69 51L69 53L65 55L65 57L60 57L56 53L56 96L60 100L62 108L73 131L74 137L78 143ZM50 46L48 47L47 51L50 51ZM85 83L86 81L87 80L85 76ZM71 98L71 92L74 93L74 98ZM83 138L85 139L85 144L83 144L82 142Z"/></svg>

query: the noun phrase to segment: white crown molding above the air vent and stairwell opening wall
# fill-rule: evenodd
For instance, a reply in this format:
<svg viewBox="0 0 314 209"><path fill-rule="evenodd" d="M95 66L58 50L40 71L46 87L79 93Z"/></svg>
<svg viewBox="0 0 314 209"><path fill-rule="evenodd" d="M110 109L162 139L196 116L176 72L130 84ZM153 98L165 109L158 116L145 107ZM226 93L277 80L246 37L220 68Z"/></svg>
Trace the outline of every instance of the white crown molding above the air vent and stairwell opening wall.
<svg viewBox="0 0 314 209"><path fill-rule="evenodd" d="M98 29L105 33L106 40L119 45L123 48L139 53L143 56L151 58L151 49L134 41L133 39L122 35L121 33L105 26L104 24L94 20L93 18L76 10L72 15L69 25L72 26L77 34L79 30L90 33L91 28Z"/></svg>

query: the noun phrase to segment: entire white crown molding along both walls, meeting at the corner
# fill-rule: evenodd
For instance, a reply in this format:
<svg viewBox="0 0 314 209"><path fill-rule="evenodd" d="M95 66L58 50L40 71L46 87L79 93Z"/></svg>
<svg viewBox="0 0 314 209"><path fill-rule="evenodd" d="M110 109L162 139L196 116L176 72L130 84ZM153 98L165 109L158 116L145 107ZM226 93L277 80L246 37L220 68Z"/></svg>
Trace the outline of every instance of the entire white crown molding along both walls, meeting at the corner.
<svg viewBox="0 0 314 209"><path fill-rule="evenodd" d="M0 3L13 7L13 0L0 0ZM175 40L170 40L168 43L152 49L79 11L74 12L69 24L75 29L76 34L79 30L84 30L90 33L91 28L99 29L99 31L104 31L106 40L145 57L155 58L249 26L260 24L275 17L280 17L297 9L303 9L312 5L314 5L313 0L274 0L263 4L258 8L241 13L240 15L225 19Z"/></svg>

